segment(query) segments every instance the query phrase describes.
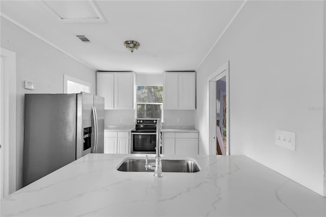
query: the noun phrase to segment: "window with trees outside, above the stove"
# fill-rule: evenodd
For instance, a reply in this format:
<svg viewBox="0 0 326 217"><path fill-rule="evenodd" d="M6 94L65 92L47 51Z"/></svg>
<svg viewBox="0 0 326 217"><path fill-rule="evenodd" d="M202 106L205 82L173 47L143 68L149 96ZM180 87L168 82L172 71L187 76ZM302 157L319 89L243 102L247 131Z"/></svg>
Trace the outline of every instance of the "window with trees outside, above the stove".
<svg viewBox="0 0 326 217"><path fill-rule="evenodd" d="M137 86L137 118L160 118L163 86Z"/></svg>

